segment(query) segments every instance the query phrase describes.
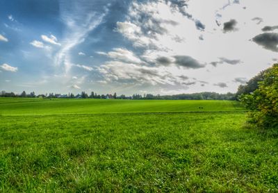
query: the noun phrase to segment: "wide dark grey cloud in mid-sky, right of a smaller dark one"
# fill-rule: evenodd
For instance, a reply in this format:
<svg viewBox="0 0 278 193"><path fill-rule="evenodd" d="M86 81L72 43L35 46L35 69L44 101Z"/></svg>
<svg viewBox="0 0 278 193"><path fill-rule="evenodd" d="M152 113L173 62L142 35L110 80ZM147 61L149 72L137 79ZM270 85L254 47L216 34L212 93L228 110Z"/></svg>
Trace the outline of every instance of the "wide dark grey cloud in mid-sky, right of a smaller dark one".
<svg viewBox="0 0 278 193"><path fill-rule="evenodd" d="M198 69L205 66L190 56L174 56L174 58L176 59L174 63L181 67Z"/></svg>

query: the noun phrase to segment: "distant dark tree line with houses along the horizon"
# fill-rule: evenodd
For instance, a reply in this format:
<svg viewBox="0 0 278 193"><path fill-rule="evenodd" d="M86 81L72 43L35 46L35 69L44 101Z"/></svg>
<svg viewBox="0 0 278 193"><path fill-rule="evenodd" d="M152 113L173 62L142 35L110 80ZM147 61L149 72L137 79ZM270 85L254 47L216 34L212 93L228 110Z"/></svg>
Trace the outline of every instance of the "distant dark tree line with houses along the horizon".
<svg viewBox="0 0 278 193"><path fill-rule="evenodd" d="M21 94L15 94L14 92L0 92L0 97L22 97L22 98L59 98L59 99L138 99L138 100L235 100L236 94L228 92L227 94L219 94L217 92L198 92L193 94L174 94L174 95L160 95L160 94L133 94L131 96L126 96L124 94L117 95L114 94L97 94L97 92L90 92L90 94L85 91L79 94L57 94L50 92L49 94L38 94L35 92L26 93L23 91Z"/></svg>

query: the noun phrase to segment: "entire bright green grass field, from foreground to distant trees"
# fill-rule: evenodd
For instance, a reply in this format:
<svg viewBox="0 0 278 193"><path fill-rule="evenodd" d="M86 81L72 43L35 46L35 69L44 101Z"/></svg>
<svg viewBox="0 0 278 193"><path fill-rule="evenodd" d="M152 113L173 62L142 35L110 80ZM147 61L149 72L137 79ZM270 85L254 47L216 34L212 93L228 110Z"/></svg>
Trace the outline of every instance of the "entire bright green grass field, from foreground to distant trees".
<svg viewBox="0 0 278 193"><path fill-rule="evenodd" d="M245 121L235 101L0 98L0 192L277 192L278 131Z"/></svg>

